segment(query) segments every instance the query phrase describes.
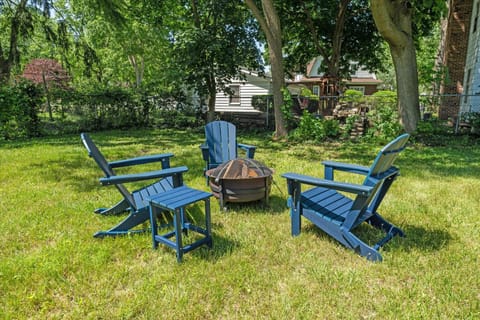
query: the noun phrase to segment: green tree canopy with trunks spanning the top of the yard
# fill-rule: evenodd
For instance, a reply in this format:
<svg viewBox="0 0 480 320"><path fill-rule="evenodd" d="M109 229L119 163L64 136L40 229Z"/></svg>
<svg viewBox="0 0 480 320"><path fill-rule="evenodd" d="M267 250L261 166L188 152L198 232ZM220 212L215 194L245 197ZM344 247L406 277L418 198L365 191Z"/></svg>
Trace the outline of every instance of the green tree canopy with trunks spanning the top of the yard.
<svg viewBox="0 0 480 320"><path fill-rule="evenodd" d="M396 70L407 131L418 121L416 49L445 12L443 0L0 0L0 82L32 59L55 59L76 86L191 88L208 101L242 77L242 67L270 64L276 133L282 124L285 75L323 58L332 79L352 62L385 69L384 43ZM424 42L423 42L424 43ZM260 56L266 47L268 62ZM424 46L430 51L431 46ZM431 63L420 65L429 68ZM430 63L430 64L429 64ZM420 68L421 69L421 68ZM420 74L422 74L420 72ZM422 76L427 79L427 76Z"/></svg>

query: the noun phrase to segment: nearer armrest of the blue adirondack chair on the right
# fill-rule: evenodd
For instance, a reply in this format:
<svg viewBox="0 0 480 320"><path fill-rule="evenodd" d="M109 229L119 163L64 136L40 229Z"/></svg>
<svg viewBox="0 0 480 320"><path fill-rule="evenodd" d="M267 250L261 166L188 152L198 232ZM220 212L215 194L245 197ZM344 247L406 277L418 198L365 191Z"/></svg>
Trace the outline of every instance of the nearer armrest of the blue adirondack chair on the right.
<svg viewBox="0 0 480 320"><path fill-rule="evenodd" d="M364 196L368 196L373 190L373 187L370 187L370 186L364 186L364 185L346 183L346 182L336 182L336 181L331 181L326 179L318 179L315 177L310 177L303 174L297 174L297 173L291 173L291 172L282 174L282 177L286 178L288 182L303 183L303 184L308 184L308 185L317 186L317 187L335 189L338 191L361 194Z"/></svg>

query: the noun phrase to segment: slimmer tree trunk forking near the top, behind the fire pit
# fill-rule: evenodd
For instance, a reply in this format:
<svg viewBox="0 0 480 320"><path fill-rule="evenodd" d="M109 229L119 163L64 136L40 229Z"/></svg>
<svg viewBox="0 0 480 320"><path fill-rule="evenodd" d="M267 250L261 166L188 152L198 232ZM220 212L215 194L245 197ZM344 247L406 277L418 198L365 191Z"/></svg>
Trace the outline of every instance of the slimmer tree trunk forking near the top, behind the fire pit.
<svg viewBox="0 0 480 320"><path fill-rule="evenodd" d="M272 71L275 138L283 138L288 132L284 124L282 113L282 90L285 87L285 74L283 70L282 29L280 27L280 19L275 7L273 6L272 0L262 0L262 11L259 10L253 0L246 0L245 3L252 12L253 16L257 19L267 38Z"/></svg>

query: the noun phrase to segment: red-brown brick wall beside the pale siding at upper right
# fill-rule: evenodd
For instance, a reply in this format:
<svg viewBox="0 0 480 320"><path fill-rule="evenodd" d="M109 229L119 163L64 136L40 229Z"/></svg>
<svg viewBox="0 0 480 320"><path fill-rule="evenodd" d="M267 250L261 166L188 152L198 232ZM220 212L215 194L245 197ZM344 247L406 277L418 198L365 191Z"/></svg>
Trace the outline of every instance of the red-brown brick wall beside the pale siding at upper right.
<svg viewBox="0 0 480 320"><path fill-rule="evenodd" d="M448 95L463 93L472 3L473 0L449 1L450 8L441 59L442 64L448 69L448 81L440 88L440 93L446 95L439 110L439 118L443 120L456 117L460 109L460 97L448 97Z"/></svg>

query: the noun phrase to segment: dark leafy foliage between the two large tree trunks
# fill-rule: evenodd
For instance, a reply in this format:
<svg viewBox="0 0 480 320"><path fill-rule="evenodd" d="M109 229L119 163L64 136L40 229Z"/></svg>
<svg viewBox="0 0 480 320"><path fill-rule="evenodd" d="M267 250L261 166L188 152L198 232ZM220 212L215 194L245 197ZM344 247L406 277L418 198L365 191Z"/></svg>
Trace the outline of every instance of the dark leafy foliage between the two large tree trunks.
<svg viewBox="0 0 480 320"><path fill-rule="evenodd" d="M313 58L322 56L322 72L330 73L333 54L339 55L339 73L333 76L348 78L351 61L371 70L381 69L382 39L373 22L368 1L348 1L342 39L335 39L338 23L338 0L284 1L281 16L284 32L285 61L290 71L305 72ZM341 51L333 52L334 42L341 42Z"/></svg>

